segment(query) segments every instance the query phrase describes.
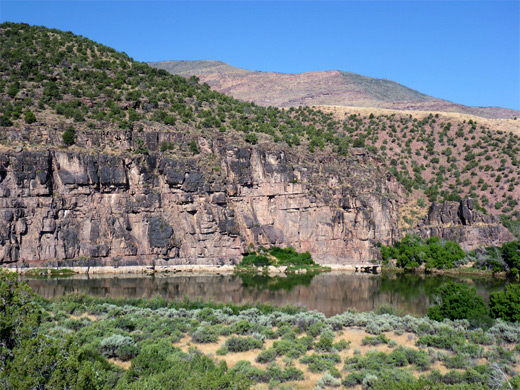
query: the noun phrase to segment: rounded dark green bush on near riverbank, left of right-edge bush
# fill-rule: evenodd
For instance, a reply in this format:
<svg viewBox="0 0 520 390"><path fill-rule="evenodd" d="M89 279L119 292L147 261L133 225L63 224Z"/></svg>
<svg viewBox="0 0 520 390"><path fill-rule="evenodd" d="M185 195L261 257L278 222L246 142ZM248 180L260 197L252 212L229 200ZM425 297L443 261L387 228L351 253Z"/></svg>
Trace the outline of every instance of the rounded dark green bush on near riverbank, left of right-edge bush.
<svg viewBox="0 0 520 390"><path fill-rule="evenodd" d="M475 327L489 324L488 308L474 287L466 283L448 282L437 288L435 293L436 304L427 312L432 320L467 319Z"/></svg>

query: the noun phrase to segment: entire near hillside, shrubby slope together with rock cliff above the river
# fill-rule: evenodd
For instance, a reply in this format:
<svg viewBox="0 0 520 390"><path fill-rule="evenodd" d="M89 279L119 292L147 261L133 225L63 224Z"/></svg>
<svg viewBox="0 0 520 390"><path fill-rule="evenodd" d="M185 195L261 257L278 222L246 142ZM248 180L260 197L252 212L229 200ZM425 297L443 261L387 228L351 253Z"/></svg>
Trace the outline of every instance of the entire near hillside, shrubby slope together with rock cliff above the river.
<svg viewBox="0 0 520 390"><path fill-rule="evenodd" d="M261 107L43 27L4 23L0 42L0 262L222 265L277 245L321 264L366 263L414 225L400 226L400 209L419 198L427 208L424 191L484 204L479 175L494 178L482 194L504 198L488 198L490 210L518 214L512 134L467 122L452 135L434 116ZM464 169L444 167L441 147L467 148L446 155ZM424 155L417 167L412 148ZM512 237L475 220L486 222L459 222L461 237Z"/></svg>

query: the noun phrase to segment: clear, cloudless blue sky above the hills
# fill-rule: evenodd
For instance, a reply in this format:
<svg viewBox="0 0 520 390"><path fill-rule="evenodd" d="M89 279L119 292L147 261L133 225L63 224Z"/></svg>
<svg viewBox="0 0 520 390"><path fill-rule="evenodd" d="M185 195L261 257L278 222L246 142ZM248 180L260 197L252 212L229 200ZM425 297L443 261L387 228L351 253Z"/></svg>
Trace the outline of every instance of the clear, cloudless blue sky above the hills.
<svg viewBox="0 0 520 390"><path fill-rule="evenodd" d="M520 2L8 1L0 20L72 31L139 61L338 69L520 109Z"/></svg>

